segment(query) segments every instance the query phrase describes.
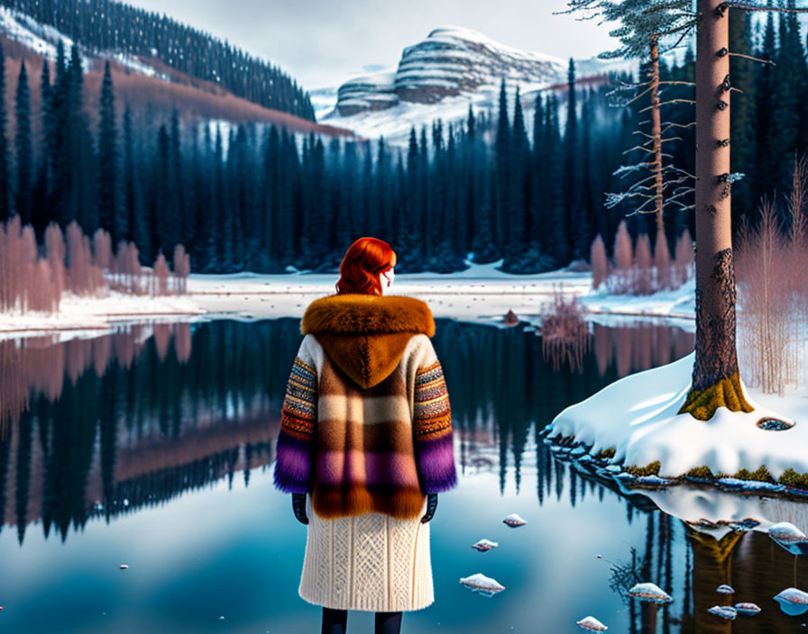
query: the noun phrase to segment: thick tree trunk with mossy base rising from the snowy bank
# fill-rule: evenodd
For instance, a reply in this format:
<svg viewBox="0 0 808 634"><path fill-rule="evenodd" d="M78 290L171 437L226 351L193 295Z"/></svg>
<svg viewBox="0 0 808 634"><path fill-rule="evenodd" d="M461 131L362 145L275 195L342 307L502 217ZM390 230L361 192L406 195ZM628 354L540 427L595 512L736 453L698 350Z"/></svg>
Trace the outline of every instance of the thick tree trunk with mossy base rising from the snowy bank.
<svg viewBox="0 0 808 634"><path fill-rule="evenodd" d="M735 347L730 215L730 20L723 0L698 0L696 37L696 354L680 413L751 412Z"/></svg>

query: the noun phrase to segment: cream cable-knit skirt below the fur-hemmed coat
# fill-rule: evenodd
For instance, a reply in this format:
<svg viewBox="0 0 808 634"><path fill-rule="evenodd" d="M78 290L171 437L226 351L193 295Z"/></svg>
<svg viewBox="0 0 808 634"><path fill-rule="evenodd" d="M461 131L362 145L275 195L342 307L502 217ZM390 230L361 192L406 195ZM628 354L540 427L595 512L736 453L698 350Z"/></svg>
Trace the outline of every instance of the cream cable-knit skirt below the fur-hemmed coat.
<svg viewBox="0 0 808 634"><path fill-rule="evenodd" d="M424 503L426 511L426 503ZM307 501L300 596L334 610L421 610L435 601L429 524L383 513L324 520Z"/></svg>

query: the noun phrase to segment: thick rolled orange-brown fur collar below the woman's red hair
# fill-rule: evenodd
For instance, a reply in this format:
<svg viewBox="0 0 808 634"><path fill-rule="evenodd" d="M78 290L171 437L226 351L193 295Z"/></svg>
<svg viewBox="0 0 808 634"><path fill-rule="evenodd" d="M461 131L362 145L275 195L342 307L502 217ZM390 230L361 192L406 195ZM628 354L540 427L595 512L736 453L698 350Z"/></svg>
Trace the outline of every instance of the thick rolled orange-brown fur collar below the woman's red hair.
<svg viewBox="0 0 808 634"><path fill-rule="evenodd" d="M342 294L321 297L309 304L300 331L318 334L435 334L435 321L426 303L401 295Z"/></svg>

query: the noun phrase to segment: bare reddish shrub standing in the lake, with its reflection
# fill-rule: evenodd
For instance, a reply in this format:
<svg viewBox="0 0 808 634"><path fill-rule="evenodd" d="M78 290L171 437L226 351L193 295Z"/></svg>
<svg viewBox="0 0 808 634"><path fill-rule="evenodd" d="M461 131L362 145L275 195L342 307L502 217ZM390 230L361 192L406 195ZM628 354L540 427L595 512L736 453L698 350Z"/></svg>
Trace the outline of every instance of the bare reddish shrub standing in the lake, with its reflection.
<svg viewBox="0 0 808 634"><path fill-rule="evenodd" d="M586 323L586 309L574 295L567 296L556 288L553 303L542 309L541 349L554 370L565 363L575 370L583 369L583 354L590 349L591 337Z"/></svg>

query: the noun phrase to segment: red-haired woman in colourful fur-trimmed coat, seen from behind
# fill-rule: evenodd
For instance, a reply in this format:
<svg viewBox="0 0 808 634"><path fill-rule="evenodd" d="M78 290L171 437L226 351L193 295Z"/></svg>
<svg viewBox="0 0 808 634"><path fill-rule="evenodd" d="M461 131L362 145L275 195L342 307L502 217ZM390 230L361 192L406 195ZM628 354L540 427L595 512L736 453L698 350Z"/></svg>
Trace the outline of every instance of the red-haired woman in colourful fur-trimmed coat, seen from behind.
<svg viewBox="0 0 808 634"><path fill-rule="evenodd" d="M432 312L382 294L395 265L387 242L351 245L336 294L303 316L281 412L274 481L308 524L299 594L324 634L344 634L349 610L398 634L435 600L428 522L457 481L452 416Z"/></svg>

